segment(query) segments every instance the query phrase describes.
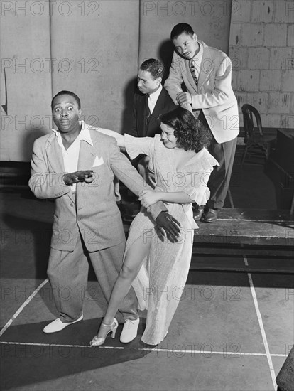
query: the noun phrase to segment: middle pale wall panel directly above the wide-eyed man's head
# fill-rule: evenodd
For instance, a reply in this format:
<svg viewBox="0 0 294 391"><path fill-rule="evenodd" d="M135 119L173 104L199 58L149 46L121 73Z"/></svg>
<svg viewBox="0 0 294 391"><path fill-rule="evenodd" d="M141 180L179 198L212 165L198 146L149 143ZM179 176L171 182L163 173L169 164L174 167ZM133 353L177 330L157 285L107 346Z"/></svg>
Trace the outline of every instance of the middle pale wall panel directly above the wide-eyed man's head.
<svg viewBox="0 0 294 391"><path fill-rule="evenodd" d="M70 4L69 16L58 13L51 21L52 57L59 64L53 94L76 92L88 123L121 132L128 124L124 110L137 72L138 1Z"/></svg>

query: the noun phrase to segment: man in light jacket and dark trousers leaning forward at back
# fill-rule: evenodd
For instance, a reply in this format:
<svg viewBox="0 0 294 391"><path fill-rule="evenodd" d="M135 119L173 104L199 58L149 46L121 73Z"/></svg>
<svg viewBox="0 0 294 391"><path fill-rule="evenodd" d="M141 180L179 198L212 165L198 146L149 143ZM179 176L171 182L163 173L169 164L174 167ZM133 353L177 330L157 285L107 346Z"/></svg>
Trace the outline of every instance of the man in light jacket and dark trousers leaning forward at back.
<svg viewBox="0 0 294 391"><path fill-rule="evenodd" d="M187 23L177 24L170 33L175 46L170 74L165 89L175 103L192 109L212 132L210 153L219 162L209 178L210 198L206 208L199 205L194 218L211 223L223 207L239 134L239 114L232 90L232 62L220 50L197 39ZM183 92L184 82L187 92Z"/></svg>

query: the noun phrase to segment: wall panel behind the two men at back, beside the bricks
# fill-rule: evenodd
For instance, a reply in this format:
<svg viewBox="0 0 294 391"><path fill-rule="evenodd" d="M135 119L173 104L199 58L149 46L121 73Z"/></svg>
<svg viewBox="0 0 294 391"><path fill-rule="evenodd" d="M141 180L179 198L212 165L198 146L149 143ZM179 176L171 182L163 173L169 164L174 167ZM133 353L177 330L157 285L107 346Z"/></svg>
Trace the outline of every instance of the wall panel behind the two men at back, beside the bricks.
<svg viewBox="0 0 294 391"><path fill-rule="evenodd" d="M228 53L231 5L232 0L141 1L138 63L160 58L169 68L170 31L178 23L190 24L200 40Z"/></svg>

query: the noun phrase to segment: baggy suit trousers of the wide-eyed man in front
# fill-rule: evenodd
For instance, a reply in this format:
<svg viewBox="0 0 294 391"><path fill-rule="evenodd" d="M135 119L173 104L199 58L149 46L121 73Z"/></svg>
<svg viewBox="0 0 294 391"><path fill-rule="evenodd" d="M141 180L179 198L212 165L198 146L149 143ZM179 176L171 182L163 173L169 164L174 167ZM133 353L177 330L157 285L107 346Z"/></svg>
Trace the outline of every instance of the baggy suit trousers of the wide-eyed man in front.
<svg viewBox="0 0 294 391"><path fill-rule="evenodd" d="M77 245L72 252L51 248L48 263L48 279L53 289L53 297L59 317L62 322L75 321L82 315L85 291L89 271L88 260L92 262L99 285L107 303L111 291L123 264L126 242L103 250L88 252L82 240L77 239ZM138 301L134 289L119 306L118 321L136 319L138 317Z"/></svg>

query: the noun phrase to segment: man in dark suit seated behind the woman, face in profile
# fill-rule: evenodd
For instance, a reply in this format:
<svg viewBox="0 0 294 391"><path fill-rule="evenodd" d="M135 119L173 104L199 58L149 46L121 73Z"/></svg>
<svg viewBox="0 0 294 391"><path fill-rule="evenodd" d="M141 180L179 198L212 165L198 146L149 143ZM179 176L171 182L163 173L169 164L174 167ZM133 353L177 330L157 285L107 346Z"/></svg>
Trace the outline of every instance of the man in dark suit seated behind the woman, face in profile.
<svg viewBox="0 0 294 391"><path fill-rule="evenodd" d="M138 70L138 90L134 95L133 120L127 134L134 137L153 137L160 134L160 114L175 109L175 103L161 85L164 65L159 60L150 58L144 61ZM138 171L153 186L153 176L148 169L148 156L140 155L133 161Z"/></svg>

